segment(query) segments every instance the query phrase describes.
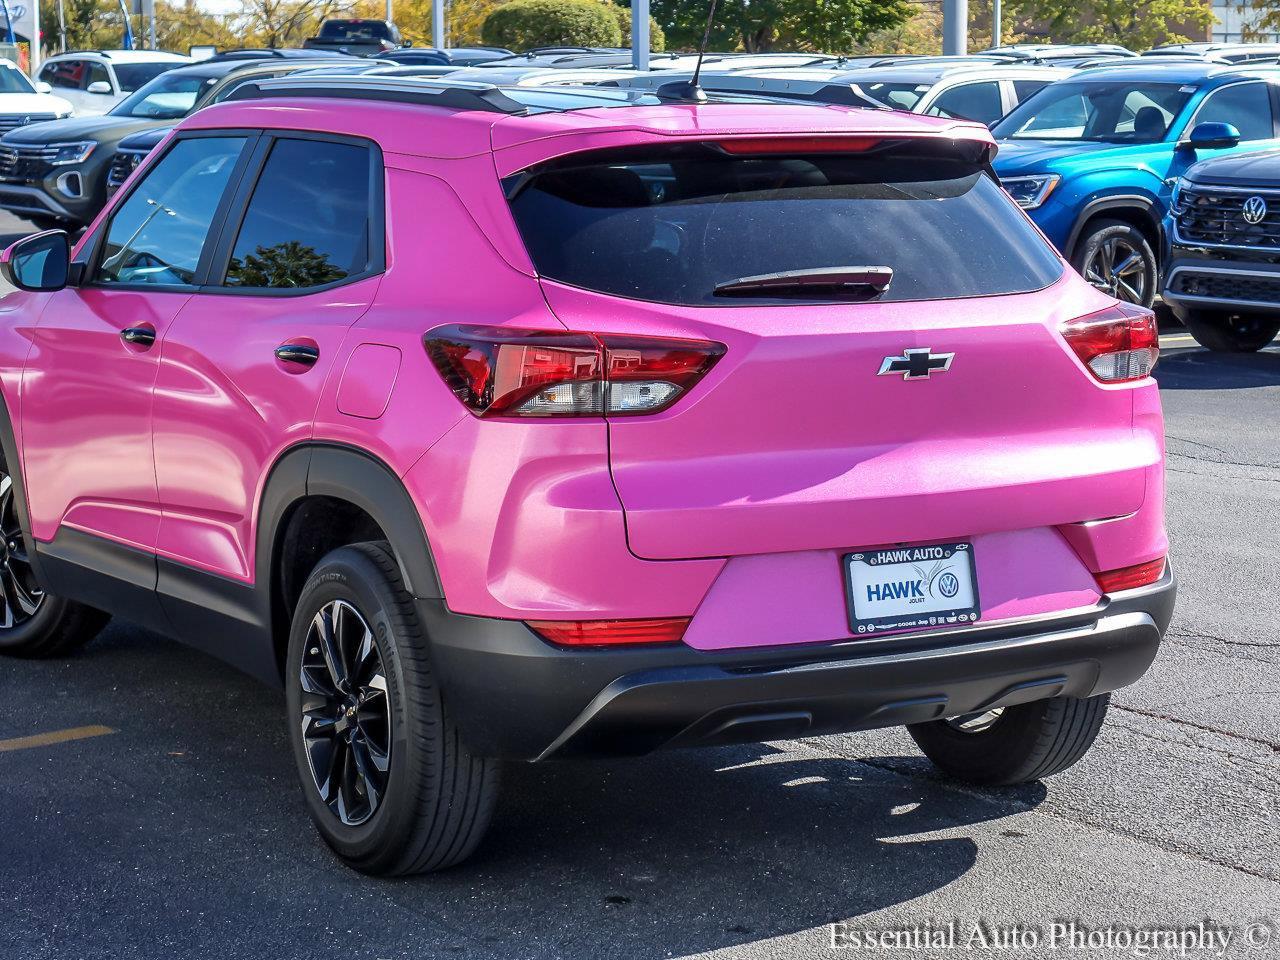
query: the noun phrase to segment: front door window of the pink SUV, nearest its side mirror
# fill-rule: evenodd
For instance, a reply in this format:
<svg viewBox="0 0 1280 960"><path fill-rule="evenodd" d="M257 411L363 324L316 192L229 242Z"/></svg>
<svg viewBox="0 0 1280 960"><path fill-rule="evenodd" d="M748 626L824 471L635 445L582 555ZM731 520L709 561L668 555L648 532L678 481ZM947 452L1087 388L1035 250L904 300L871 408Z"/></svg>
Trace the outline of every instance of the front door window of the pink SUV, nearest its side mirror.
<svg viewBox="0 0 1280 960"><path fill-rule="evenodd" d="M179 140L111 214L93 279L189 284L243 137Z"/></svg>

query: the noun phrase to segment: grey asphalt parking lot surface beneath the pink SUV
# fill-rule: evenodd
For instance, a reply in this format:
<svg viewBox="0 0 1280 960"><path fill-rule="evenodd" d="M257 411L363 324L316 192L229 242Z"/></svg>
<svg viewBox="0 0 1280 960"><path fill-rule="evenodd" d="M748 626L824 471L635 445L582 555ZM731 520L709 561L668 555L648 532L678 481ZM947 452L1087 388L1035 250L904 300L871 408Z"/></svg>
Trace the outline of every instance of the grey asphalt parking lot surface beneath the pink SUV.
<svg viewBox="0 0 1280 960"><path fill-rule="evenodd" d="M282 696L116 623L0 663L0 957L809 957L832 922L1132 955L1055 950L1059 920L1280 956L1280 347L1164 346L1178 613L1043 786L947 783L899 731L516 767L472 863L370 881L306 819Z"/></svg>

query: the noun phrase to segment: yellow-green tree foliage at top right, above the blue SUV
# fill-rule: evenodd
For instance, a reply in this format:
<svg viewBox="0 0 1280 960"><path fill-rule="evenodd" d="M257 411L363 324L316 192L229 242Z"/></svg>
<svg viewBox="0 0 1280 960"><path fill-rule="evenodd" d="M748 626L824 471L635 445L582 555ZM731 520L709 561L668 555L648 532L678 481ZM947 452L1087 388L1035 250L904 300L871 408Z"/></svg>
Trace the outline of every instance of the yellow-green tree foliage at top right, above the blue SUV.
<svg viewBox="0 0 1280 960"><path fill-rule="evenodd" d="M1121 44L1130 50L1203 40L1213 24L1204 0L1015 0L1010 6L1059 44Z"/></svg>

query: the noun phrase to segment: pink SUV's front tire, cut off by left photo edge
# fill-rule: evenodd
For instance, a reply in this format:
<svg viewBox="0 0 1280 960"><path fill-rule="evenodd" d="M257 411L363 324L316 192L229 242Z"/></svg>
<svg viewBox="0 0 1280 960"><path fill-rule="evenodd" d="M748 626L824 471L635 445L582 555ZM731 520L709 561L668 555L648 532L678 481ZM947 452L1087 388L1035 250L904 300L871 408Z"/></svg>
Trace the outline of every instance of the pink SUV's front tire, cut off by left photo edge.
<svg viewBox="0 0 1280 960"><path fill-rule="evenodd" d="M54 596L38 584L22 532L13 479L0 456L0 654L63 657L102 632L110 616Z"/></svg>

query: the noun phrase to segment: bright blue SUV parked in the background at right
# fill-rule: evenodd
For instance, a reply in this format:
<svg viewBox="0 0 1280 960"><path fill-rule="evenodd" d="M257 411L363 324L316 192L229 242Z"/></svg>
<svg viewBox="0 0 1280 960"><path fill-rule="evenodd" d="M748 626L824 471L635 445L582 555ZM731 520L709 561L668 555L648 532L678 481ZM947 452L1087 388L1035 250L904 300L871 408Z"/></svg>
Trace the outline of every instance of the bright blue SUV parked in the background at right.
<svg viewBox="0 0 1280 960"><path fill-rule="evenodd" d="M1087 69L1023 102L992 133L1001 183L1071 265L1149 307L1174 184L1207 156L1280 146L1280 68Z"/></svg>

